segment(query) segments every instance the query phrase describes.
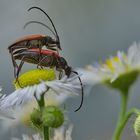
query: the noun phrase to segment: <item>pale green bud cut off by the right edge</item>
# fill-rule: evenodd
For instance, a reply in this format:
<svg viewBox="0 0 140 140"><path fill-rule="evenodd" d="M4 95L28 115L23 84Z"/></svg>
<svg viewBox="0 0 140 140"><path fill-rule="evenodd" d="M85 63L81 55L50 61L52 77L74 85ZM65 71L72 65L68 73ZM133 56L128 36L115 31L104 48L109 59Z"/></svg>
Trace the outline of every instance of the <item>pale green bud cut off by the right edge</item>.
<svg viewBox="0 0 140 140"><path fill-rule="evenodd" d="M134 131L136 136L140 138L140 115L135 120Z"/></svg>

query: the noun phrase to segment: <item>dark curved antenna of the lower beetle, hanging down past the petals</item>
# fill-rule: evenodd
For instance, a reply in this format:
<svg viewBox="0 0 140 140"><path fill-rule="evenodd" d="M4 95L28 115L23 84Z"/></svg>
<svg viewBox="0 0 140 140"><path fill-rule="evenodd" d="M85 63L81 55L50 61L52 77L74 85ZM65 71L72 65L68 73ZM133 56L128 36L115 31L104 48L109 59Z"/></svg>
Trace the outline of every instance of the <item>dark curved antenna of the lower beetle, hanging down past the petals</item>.
<svg viewBox="0 0 140 140"><path fill-rule="evenodd" d="M80 85L81 85L81 91L82 91L82 98L81 98L81 103L80 103L80 106L75 110L75 112L77 112L83 105L83 100L84 100L84 88L83 88L83 83L82 83L82 80L78 74L78 72L76 71L72 71L73 73L75 73L77 76L78 76L78 79L80 81Z"/></svg>

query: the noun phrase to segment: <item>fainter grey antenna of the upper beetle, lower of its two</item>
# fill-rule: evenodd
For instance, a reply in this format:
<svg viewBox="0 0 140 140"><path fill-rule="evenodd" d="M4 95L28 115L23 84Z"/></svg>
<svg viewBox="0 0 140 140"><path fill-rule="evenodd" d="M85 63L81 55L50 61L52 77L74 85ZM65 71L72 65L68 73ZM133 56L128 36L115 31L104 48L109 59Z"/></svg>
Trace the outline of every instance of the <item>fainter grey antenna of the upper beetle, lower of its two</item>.
<svg viewBox="0 0 140 140"><path fill-rule="evenodd" d="M42 23L40 21L34 21L34 20L33 21L28 21L28 22L25 23L23 28L25 29L31 23L37 23L37 24L40 24L40 25L46 27L57 38L55 32L49 26L47 26L46 24L44 24L44 23Z"/></svg>

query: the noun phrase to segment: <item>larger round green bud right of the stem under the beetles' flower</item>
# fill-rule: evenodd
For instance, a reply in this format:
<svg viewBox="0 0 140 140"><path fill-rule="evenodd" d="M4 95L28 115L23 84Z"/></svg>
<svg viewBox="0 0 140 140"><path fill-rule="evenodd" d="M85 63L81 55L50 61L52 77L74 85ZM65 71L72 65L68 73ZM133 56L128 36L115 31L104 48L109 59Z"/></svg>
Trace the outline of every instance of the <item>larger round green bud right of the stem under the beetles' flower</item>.
<svg viewBox="0 0 140 140"><path fill-rule="evenodd" d="M42 110L43 126L57 128L64 122L64 114L56 106L47 106Z"/></svg>

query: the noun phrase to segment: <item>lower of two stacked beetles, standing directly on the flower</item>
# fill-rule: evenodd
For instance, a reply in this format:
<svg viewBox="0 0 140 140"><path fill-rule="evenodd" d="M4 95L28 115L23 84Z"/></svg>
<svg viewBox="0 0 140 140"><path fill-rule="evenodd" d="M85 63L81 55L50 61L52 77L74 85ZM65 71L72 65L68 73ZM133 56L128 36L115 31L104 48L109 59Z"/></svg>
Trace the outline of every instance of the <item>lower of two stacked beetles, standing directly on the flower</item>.
<svg viewBox="0 0 140 140"><path fill-rule="evenodd" d="M20 72L24 62L37 64L37 67L41 66L42 68L43 67L49 67L49 68L55 67L56 70L60 71L60 75L64 71L65 75L67 75L68 78L70 77L71 73L76 74L78 76L78 79L79 79L80 85L81 85L82 99L81 99L80 106L75 110L75 112L81 108L81 106L83 104L83 98L84 98L83 84L82 84L81 78L79 77L78 72L74 71L72 69L72 67L70 67L68 65L68 63L64 57L61 57L58 53L56 53L52 50L41 50L41 56L40 56L40 50L37 48L32 48L32 49L28 49L24 52L15 53L13 55L13 57L15 58L15 60L21 60L19 66L18 66L18 70L17 70L17 77L16 77L17 80L18 80L19 72ZM61 79L61 76L59 76L60 79Z"/></svg>

